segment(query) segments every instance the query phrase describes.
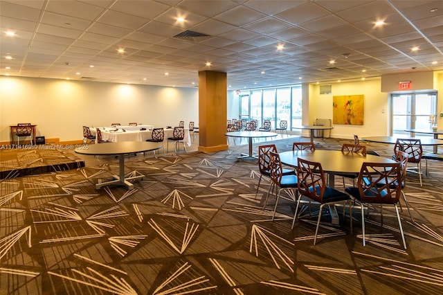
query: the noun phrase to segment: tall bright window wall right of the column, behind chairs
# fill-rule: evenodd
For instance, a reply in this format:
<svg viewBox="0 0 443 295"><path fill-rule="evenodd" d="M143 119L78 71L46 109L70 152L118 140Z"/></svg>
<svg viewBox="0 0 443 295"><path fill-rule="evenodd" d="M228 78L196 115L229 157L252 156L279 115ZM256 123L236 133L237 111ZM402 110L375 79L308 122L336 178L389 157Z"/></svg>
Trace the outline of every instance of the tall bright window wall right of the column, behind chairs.
<svg viewBox="0 0 443 295"><path fill-rule="evenodd" d="M288 130L302 123L302 89L300 86L242 90L240 97L240 119L271 121L271 129L280 127L280 120L287 120Z"/></svg>

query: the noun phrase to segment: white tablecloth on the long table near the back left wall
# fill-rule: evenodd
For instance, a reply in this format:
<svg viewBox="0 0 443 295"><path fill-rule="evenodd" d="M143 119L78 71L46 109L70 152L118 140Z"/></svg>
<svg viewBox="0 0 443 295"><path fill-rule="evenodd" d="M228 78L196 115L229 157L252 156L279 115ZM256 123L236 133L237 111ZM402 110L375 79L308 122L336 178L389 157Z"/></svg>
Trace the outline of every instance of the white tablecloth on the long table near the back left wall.
<svg viewBox="0 0 443 295"><path fill-rule="evenodd" d="M123 132L123 130L118 131L108 131L100 129L102 132L102 141L111 141L113 143L116 143L118 141L145 141L147 139L152 138L152 130L135 130L131 131L128 130L126 132ZM165 132L165 139L164 142L168 142L168 137L172 137L172 133L174 132L174 129L163 129ZM94 130L95 132L95 130ZM92 133L92 132L91 132ZM185 136L183 138L183 141L185 141L188 146L191 145L191 136L188 128L185 128Z"/></svg>

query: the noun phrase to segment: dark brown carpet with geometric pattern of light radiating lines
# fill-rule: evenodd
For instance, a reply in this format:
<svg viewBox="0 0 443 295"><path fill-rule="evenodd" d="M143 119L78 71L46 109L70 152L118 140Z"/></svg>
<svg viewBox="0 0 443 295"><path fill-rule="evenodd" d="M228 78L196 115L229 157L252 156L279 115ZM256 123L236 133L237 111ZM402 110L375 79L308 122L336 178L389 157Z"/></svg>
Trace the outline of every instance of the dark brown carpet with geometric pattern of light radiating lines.
<svg viewBox="0 0 443 295"><path fill-rule="evenodd" d="M274 141L291 150L293 138ZM324 140L336 149L349 141ZM271 142L268 142L271 143ZM257 143L254 144L256 150ZM392 145L371 145L391 157ZM369 211L361 240L360 211L335 225L318 206L263 199L269 179L255 161L235 161L245 145L204 154L128 158L134 190L95 184L118 173L118 160L100 166L0 182L1 294L442 294L443 172L429 161L419 186L408 175L401 212ZM343 188L337 179L336 188ZM338 208L338 210L341 210ZM341 214L339 214L341 217Z"/></svg>

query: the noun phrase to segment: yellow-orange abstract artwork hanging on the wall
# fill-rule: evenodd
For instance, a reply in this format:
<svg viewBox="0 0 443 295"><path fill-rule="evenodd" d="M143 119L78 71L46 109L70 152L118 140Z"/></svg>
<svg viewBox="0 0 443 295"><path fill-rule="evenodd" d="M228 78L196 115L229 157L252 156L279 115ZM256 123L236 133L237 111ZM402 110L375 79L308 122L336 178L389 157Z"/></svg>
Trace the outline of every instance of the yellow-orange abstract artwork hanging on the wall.
<svg viewBox="0 0 443 295"><path fill-rule="evenodd" d="M341 125L363 125L365 96L334 96L333 123Z"/></svg>

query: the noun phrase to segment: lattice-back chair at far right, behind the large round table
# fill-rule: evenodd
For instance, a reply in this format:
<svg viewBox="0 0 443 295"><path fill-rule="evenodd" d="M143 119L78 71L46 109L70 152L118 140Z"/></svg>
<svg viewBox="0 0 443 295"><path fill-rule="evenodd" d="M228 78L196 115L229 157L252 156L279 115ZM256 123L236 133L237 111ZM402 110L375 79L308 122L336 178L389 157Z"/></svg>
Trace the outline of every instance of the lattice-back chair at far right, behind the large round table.
<svg viewBox="0 0 443 295"><path fill-rule="evenodd" d="M422 183L422 155L423 155L423 147L422 141L419 138L397 138L397 141L394 145L394 154L397 154L397 151L403 151L408 154L408 163L415 163L415 167L406 168L407 172L413 172L418 174L420 180L420 186L423 186Z"/></svg>

